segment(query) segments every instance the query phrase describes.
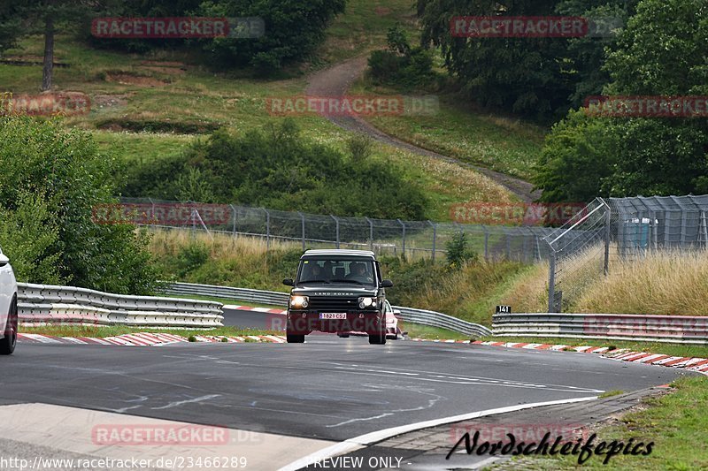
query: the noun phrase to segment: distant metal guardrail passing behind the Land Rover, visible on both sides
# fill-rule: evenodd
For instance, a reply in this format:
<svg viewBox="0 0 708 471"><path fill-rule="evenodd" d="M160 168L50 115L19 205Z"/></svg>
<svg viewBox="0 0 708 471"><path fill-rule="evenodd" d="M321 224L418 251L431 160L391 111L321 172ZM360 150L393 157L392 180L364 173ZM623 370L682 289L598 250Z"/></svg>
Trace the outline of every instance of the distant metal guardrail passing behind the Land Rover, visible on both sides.
<svg viewBox="0 0 708 471"><path fill-rule="evenodd" d="M190 283L173 283L167 286L165 293L212 296L224 300L240 300L271 306L282 306L283 309L288 308L289 299L287 292L250 290L228 286L195 285ZM401 318L408 323L420 323L431 327L453 330L473 338L492 335L492 331L483 325L468 323L457 317L452 317L451 315L424 309L404 308L402 306L393 306L393 308L401 311Z"/></svg>

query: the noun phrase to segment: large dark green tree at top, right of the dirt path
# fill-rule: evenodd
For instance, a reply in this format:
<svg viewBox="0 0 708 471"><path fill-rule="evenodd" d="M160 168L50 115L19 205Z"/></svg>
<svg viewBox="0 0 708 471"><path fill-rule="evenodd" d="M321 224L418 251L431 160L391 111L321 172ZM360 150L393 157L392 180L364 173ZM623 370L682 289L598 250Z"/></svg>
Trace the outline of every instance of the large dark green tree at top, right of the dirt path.
<svg viewBox="0 0 708 471"><path fill-rule="evenodd" d="M456 16L618 16L636 0L419 0L423 44L439 46L471 101L533 118L559 118L607 80L604 47L614 38L462 38Z"/></svg>

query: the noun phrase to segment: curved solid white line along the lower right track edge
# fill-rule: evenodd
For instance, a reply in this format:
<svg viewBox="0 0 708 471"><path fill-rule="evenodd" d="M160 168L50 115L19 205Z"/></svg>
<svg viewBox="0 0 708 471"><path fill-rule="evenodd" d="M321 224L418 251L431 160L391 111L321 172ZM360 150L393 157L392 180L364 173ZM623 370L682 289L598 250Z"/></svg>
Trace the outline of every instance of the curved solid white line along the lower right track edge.
<svg viewBox="0 0 708 471"><path fill-rule="evenodd" d="M558 404L572 404L573 402L582 402L582 401L595 400L595 399L597 399L597 396L592 396L592 397L588 397L588 398L577 398L577 399L551 400L548 402L535 402L532 404L521 404L519 406L498 407L496 409L489 409L486 411L473 412L470 414L453 415L451 417L445 417L443 419L435 419L432 421L417 422L417 423L412 423L409 425L401 425L399 427L392 427L390 429L378 430L375 432L367 433L365 435L360 435L358 437L349 438L349 439L344 440L343 442L338 443L338 444L333 444L331 446L327 446L327 448L323 448L322 450L319 450L318 452L314 452L312 454L304 456L303 458L300 458L299 460L293 461L292 463L290 463L287 466L281 467L279 469L279 471L296 471L297 469L300 469L302 467L307 467L307 466L312 465L313 463L316 463L318 461L322 461L327 458L331 458L331 457L341 455L341 454L355 452L355 451L357 451L361 448L364 448L370 444L375 444L375 443L381 442L383 440L386 440L387 438L396 437L396 435L402 435L404 433L412 432L412 431L419 430L419 429L427 429L430 427L436 427L438 425L444 425L446 423L468 421L468 420L476 419L479 417L486 417L488 415L504 414L507 412L515 412L515 411L520 411L520 410L524 410L524 409L531 409L534 407L556 406Z"/></svg>

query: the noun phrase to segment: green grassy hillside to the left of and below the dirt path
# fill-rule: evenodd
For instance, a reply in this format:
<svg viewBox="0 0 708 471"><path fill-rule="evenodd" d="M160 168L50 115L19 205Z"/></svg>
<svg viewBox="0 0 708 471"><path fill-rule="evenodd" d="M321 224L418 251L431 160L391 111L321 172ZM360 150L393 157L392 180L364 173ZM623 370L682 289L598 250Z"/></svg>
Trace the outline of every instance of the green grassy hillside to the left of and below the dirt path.
<svg viewBox="0 0 708 471"><path fill-rule="evenodd" d="M38 60L42 38L28 38L8 59ZM278 123L266 112L270 96L302 95L306 80L254 80L233 74L214 74L189 62L178 52L154 57L89 49L66 35L57 38L58 90L82 91L91 97L87 115L65 118L94 133L105 152L127 164L150 164L179 155L196 139L226 126L235 133ZM0 65L0 80L16 94L37 93L41 69L35 65ZM296 117L306 139L345 151L350 133L314 116ZM374 144L373 159L398 163L405 179L427 194L427 218L449 220L450 205L466 201L513 201L491 180L458 165L430 161L409 152ZM238 201L235 201L238 202Z"/></svg>

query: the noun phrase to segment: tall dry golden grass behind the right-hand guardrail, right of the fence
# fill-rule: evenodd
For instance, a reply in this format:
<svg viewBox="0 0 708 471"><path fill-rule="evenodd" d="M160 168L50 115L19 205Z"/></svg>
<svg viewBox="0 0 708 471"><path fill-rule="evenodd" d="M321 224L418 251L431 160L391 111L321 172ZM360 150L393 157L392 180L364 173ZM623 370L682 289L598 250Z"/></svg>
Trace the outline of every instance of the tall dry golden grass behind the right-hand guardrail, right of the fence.
<svg viewBox="0 0 708 471"><path fill-rule="evenodd" d="M708 315L708 253L666 251L615 261L573 304L585 313Z"/></svg>

